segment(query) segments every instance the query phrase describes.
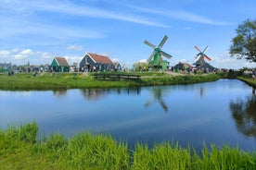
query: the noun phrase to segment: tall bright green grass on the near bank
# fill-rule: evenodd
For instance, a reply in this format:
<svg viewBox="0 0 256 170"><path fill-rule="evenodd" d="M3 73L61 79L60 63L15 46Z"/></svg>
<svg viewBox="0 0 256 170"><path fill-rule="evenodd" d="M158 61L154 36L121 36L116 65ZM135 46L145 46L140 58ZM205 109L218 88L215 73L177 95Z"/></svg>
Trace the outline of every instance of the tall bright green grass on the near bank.
<svg viewBox="0 0 256 170"><path fill-rule="evenodd" d="M178 143L152 149L138 143L130 151L110 135L84 132L65 139L53 134L37 140L37 132L35 123L0 129L0 169L256 169L255 152L226 145L198 153Z"/></svg>

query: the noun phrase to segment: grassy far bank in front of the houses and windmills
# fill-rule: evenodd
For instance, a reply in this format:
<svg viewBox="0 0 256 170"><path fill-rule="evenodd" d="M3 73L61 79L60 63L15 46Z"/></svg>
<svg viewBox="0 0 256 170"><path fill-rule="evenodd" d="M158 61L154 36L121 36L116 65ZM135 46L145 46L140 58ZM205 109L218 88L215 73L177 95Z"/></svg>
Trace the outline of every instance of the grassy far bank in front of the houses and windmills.
<svg viewBox="0 0 256 170"><path fill-rule="evenodd" d="M108 73L107 73L108 74ZM115 73L118 74L118 73ZM123 74L123 73L122 73ZM126 73L129 74L129 73ZM134 74L134 73L133 73ZM0 89L10 91L60 90L82 88L116 88L154 85L190 84L220 79L216 74L171 76L165 73L136 73L141 80L102 81L83 73L43 73L35 77L32 73L18 73L8 77L0 74Z"/></svg>

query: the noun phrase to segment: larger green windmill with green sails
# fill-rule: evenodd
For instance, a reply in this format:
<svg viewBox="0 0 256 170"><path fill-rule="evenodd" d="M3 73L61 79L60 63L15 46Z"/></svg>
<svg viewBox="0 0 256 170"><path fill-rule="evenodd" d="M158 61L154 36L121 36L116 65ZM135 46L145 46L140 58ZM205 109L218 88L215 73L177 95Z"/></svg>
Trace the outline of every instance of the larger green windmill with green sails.
<svg viewBox="0 0 256 170"><path fill-rule="evenodd" d="M163 46L163 44L167 41L168 37L165 35L163 39L161 40L159 46L156 46L150 42L145 41L148 46L154 48L154 51L151 53L151 55L147 59L148 67L151 67L156 70L162 69L163 71L167 70L168 62L166 60L162 59L162 56L167 57L168 59L172 57L172 55L169 55L163 51L160 50L160 48Z"/></svg>

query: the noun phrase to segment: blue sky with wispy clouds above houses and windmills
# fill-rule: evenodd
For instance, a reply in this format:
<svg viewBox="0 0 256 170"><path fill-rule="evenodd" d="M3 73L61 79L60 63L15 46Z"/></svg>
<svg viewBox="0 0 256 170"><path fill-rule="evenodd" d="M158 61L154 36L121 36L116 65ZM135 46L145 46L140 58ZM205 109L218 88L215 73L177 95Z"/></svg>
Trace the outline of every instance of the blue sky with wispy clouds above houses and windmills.
<svg viewBox="0 0 256 170"><path fill-rule="evenodd" d="M158 45L167 35L171 66L194 63L194 46L209 45L213 67L256 67L228 54L237 25L255 11L255 0L0 0L0 63L63 56L72 64L89 52L132 67L152 52L145 40Z"/></svg>

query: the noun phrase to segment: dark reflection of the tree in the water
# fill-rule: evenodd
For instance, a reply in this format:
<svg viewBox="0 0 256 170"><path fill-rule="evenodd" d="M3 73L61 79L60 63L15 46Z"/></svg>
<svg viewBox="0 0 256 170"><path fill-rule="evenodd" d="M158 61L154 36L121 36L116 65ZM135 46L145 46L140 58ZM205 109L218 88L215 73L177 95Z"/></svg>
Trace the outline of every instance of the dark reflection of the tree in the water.
<svg viewBox="0 0 256 170"><path fill-rule="evenodd" d="M252 95L245 100L237 99L236 102L231 102L230 110L236 121L237 130L247 137L256 138L255 89L252 89Z"/></svg>

